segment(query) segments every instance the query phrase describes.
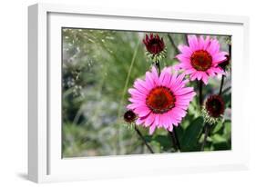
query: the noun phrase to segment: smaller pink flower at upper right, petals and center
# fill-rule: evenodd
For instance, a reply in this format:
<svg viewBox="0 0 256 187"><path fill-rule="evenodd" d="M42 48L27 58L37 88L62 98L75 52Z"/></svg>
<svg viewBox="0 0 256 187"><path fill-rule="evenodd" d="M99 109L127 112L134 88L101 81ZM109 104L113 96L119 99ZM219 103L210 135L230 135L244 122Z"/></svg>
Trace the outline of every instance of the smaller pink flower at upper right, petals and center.
<svg viewBox="0 0 256 187"><path fill-rule="evenodd" d="M180 64L176 67L185 70L185 74L190 74L190 80L202 80L204 84L208 83L210 76L224 74L219 64L226 60L226 52L220 52L220 43L217 39L206 39L201 35L199 38L195 35L189 35L189 46L179 45L179 51L176 57Z"/></svg>

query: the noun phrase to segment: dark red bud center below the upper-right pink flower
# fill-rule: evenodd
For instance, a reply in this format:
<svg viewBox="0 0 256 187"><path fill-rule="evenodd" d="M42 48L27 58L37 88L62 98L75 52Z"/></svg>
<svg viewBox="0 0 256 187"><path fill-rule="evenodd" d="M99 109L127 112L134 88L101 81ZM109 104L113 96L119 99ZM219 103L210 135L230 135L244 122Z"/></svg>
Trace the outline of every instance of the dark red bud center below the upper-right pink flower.
<svg viewBox="0 0 256 187"><path fill-rule="evenodd" d="M225 103L220 95L211 95L205 104L207 112L212 117L220 117L224 113Z"/></svg>

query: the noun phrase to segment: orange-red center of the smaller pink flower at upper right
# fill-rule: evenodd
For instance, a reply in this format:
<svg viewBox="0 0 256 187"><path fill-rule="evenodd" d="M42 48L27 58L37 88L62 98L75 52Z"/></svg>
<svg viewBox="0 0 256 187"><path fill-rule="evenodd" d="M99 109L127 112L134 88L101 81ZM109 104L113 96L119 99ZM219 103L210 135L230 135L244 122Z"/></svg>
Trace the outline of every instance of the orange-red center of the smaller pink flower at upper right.
<svg viewBox="0 0 256 187"><path fill-rule="evenodd" d="M211 55L204 50L195 51L190 57L191 65L198 71L207 71L211 64Z"/></svg>

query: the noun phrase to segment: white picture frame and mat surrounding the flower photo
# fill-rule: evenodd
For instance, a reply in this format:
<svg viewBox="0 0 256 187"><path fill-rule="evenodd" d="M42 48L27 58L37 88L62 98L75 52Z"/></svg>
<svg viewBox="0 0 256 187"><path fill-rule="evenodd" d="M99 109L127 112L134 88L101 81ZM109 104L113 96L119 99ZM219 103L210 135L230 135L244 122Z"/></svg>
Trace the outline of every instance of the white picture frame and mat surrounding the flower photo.
<svg viewBox="0 0 256 187"><path fill-rule="evenodd" d="M107 22L108 21L108 22ZM123 176L245 170L249 167L249 121L245 118L249 74L249 19L76 5L37 4L28 8L28 178L62 182ZM232 150L92 158L61 158L61 60L63 26L203 34L231 34ZM240 63L242 62L242 63ZM239 76L243 77L241 80ZM242 87L242 89L241 89ZM244 109L244 110L243 110ZM242 128L241 128L242 124Z"/></svg>

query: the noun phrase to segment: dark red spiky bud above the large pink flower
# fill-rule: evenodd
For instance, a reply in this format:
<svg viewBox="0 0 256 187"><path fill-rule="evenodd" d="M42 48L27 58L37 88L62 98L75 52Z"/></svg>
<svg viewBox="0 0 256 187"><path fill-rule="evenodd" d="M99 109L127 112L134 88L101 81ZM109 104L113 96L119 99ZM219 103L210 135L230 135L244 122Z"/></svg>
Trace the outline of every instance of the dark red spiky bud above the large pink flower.
<svg viewBox="0 0 256 187"><path fill-rule="evenodd" d="M150 34L149 37L148 34L146 34L146 38L143 39L143 43L150 54L159 54L165 47L163 38L159 38L159 34Z"/></svg>

